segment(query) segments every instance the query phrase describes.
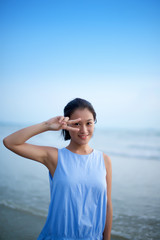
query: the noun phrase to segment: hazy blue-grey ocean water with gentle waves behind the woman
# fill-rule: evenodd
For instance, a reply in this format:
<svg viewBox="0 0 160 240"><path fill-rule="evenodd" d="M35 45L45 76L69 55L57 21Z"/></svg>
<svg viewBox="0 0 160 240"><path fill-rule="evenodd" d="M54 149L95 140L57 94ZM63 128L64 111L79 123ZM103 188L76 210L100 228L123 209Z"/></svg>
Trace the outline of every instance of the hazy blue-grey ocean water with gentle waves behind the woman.
<svg viewBox="0 0 160 240"><path fill-rule="evenodd" d="M3 146L2 139L22 128L0 125L0 206L47 216L48 170ZM64 147L60 132L28 142ZM112 160L112 234L125 239L160 239L160 130L95 129L90 145Z"/></svg>

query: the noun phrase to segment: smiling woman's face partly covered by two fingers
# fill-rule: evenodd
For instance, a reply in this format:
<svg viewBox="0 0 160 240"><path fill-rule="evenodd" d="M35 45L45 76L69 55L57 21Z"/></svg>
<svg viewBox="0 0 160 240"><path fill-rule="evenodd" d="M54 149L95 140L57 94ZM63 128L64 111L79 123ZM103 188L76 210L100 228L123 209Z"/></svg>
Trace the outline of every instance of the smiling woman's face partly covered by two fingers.
<svg viewBox="0 0 160 240"><path fill-rule="evenodd" d="M87 109L77 109L71 115L70 120L81 118L78 123L74 123L72 127L78 128L79 131L69 131L71 141L77 144L87 144L91 139L94 132L94 117L93 114Z"/></svg>

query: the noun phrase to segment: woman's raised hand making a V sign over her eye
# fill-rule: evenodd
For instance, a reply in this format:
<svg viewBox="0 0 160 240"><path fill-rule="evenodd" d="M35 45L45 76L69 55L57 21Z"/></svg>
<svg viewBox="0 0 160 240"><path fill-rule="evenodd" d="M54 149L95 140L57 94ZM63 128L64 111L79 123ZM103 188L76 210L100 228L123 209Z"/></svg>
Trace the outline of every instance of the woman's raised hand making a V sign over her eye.
<svg viewBox="0 0 160 240"><path fill-rule="evenodd" d="M68 131L79 131L78 128L72 127L73 124L78 123L81 118L69 120L69 117L57 116L46 121L48 130L58 131L65 129Z"/></svg>

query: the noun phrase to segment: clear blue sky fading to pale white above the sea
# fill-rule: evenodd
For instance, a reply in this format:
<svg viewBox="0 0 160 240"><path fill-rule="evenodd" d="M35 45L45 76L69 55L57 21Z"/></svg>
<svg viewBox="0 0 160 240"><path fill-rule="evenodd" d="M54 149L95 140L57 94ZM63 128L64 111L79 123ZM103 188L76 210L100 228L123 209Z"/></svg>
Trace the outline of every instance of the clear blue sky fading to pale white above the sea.
<svg viewBox="0 0 160 240"><path fill-rule="evenodd" d="M0 122L90 101L99 127L160 128L159 0L1 0Z"/></svg>

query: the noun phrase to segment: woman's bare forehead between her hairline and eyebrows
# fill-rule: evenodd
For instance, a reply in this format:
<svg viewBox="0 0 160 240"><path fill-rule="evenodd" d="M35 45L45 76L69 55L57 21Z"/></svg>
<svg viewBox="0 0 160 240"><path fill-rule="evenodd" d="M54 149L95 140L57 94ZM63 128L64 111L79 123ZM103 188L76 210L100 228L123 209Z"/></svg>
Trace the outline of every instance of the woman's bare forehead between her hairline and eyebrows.
<svg viewBox="0 0 160 240"><path fill-rule="evenodd" d="M77 109L75 110L70 119L76 119L76 118L81 118L81 120L94 120L93 114L87 109Z"/></svg>

